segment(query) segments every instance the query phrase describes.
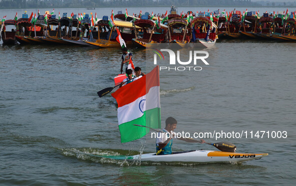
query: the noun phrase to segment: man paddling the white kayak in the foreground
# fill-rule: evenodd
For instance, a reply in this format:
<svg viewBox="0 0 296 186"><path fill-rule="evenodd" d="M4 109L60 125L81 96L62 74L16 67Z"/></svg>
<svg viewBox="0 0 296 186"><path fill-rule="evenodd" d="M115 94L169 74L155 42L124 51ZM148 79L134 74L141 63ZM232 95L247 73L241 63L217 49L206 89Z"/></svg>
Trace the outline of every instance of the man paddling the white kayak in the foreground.
<svg viewBox="0 0 296 186"><path fill-rule="evenodd" d="M172 154L172 144L173 138L176 138L176 133L174 129L177 127L177 120L174 117L168 117L165 120L165 128L164 132L158 132L156 138L156 154L164 155L164 154ZM179 137L183 141L192 142L189 138ZM201 139L201 143L205 141Z"/></svg>

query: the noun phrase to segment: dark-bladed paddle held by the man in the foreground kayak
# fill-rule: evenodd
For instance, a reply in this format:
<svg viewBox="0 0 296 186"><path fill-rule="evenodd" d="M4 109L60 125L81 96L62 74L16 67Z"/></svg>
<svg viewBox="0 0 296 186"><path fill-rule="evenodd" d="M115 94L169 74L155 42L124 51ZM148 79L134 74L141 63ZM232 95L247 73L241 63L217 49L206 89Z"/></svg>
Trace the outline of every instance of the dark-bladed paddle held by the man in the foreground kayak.
<svg viewBox="0 0 296 186"><path fill-rule="evenodd" d="M157 132L164 132L163 130L151 128L149 126L144 126L144 125L140 125L140 124L134 124L134 125L135 126L142 126L142 127L150 128L150 129L152 129L154 131L157 131ZM188 142L202 143L201 140L196 140L196 139L192 139L192 138L186 138L186 139L190 140ZM236 150L236 146L233 143L230 143L230 142L216 142L216 143L205 142L205 143L213 145L213 146L215 146L216 148L218 148L219 150L221 150L223 152L235 152L235 150Z"/></svg>

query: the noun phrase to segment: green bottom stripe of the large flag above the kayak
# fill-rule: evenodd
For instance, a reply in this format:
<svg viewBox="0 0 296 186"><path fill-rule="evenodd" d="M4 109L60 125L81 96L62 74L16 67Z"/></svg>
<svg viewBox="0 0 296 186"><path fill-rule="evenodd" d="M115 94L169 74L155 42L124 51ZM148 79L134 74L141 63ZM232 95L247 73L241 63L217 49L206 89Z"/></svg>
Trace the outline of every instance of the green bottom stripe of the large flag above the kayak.
<svg viewBox="0 0 296 186"><path fill-rule="evenodd" d="M160 108L152 108L144 111L144 114L132 121L125 122L119 125L121 134L121 142L129 142L139 139L149 132L149 128L135 126L140 124L152 128L161 128Z"/></svg>

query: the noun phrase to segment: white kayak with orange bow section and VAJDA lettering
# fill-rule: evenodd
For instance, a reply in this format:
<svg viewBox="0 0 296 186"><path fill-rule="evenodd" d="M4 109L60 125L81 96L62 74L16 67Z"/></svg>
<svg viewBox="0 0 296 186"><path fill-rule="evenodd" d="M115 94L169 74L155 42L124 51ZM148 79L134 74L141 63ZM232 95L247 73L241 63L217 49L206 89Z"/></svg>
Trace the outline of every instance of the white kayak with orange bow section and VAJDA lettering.
<svg viewBox="0 0 296 186"><path fill-rule="evenodd" d="M144 153L127 156L127 159L140 159L141 161L180 161L180 162L241 162L251 159L260 159L268 153L238 153L213 150L188 150L173 152L172 154L156 155L156 153Z"/></svg>

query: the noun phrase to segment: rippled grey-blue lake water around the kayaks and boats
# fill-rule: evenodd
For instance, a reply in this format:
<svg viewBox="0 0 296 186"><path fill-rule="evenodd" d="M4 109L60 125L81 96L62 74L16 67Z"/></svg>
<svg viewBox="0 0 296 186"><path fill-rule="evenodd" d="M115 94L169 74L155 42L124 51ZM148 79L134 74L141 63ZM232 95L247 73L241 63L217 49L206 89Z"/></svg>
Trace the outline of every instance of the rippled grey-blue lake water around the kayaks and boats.
<svg viewBox="0 0 296 186"><path fill-rule="evenodd" d="M123 10L114 11L117 9ZM142 8L142 12L163 9ZM67 10L56 8L55 12ZM1 10L1 14L13 18L15 11ZM110 12L111 8L105 8L99 15ZM202 70L160 71L162 127L166 117L174 116L178 120L176 132L287 131L286 138L272 138L271 134L269 138L266 134L262 138L205 138L232 142L238 152L269 155L238 164L193 164L127 162L89 155L155 151L150 133L120 143L116 100L111 94L99 98L96 93L113 86L113 77L120 72L120 49L1 44L0 184L293 185L295 46L222 40L204 49L209 52L209 65L198 63ZM149 72L153 64L146 51L130 51L135 65ZM173 144L175 151L189 149L216 150L207 144L178 140Z"/></svg>

